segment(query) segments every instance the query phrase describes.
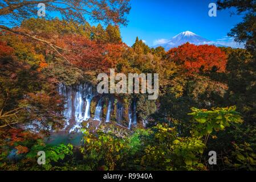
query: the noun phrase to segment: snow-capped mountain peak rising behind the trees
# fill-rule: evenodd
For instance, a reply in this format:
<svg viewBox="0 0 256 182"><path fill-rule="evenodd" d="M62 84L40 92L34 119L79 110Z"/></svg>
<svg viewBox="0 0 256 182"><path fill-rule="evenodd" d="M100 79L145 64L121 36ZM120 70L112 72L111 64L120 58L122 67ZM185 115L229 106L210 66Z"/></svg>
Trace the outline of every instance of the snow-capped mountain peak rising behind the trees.
<svg viewBox="0 0 256 182"><path fill-rule="evenodd" d="M165 51L168 51L171 48L174 47L178 47L181 46L182 44L185 43L191 43L191 44L195 44L195 45L204 45L204 44L208 44L208 45L213 45L214 42L211 42L208 39L202 38L199 35L194 34L193 32L190 31L185 31L185 32L181 32L180 34L174 36L172 39L161 43L161 44L157 44L156 46L153 46L154 48L162 46L164 47ZM215 44L215 46L222 46L219 44ZM223 46L225 47L225 46Z"/></svg>

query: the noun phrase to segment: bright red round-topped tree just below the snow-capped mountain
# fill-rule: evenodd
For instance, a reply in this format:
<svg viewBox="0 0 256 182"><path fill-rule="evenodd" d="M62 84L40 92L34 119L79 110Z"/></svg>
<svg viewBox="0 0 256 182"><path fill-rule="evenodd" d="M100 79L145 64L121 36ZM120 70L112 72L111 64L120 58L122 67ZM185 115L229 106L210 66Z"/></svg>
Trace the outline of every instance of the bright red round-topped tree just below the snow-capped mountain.
<svg viewBox="0 0 256 182"><path fill-rule="evenodd" d="M227 63L225 52L216 46L186 43L170 49L168 59L181 65L188 73L224 72Z"/></svg>

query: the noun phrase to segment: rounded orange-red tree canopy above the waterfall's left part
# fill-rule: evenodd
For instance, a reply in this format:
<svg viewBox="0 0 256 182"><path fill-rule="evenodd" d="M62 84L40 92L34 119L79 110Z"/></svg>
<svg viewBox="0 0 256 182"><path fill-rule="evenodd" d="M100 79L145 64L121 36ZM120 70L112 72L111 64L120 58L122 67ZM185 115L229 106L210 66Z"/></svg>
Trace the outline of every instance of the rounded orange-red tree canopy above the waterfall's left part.
<svg viewBox="0 0 256 182"><path fill-rule="evenodd" d="M121 58L124 44L100 43L85 36L68 35L56 40L58 46L71 49L64 56L75 65L84 69L107 71Z"/></svg>

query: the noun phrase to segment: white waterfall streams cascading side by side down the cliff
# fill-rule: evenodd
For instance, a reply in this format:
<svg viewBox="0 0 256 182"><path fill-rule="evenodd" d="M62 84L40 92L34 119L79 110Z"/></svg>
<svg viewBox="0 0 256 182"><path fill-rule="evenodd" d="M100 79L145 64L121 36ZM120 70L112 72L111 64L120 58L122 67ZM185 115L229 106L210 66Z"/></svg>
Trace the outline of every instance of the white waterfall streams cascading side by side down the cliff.
<svg viewBox="0 0 256 182"><path fill-rule="evenodd" d="M58 85L58 92L64 98L66 98L66 102L64 104L65 109L63 110L63 116L66 121L66 125L64 129L70 129L70 133L72 131L77 132L80 131L83 121L87 121L91 118L91 102L92 99L96 96L96 93L92 91L91 84L81 84L77 86L66 86L64 84ZM112 96L111 96L112 97ZM108 100L108 110L105 118L105 122L111 121L111 111L113 106L113 98L109 97ZM99 125L101 123L101 115L103 112L103 98L101 97L100 100L97 102L96 109L95 109L95 116L94 119L99 121ZM116 120L117 123L122 125L123 123L123 112L124 106L123 102L117 100L117 108L116 108ZM128 129L131 129L132 126L137 125L137 114L136 114L136 102L133 101L129 106L128 111ZM145 126L147 121L143 121L143 125ZM71 126L72 124L72 126ZM96 127L96 129L99 127ZM87 127L89 127L89 122L87 123Z"/></svg>

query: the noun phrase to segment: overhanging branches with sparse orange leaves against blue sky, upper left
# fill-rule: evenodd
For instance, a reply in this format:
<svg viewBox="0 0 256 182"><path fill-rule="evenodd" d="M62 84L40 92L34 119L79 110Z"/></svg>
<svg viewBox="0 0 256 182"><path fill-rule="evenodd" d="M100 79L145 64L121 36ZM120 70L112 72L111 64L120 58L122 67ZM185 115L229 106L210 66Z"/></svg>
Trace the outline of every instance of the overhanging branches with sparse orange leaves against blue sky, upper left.
<svg viewBox="0 0 256 182"><path fill-rule="evenodd" d="M67 60L66 57L62 55L62 52L72 52L70 49L66 49L52 43L44 37L39 37L38 35L31 35L30 32L24 32L21 29L17 30L15 28L9 28L6 26L19 25L24 19L33 18L36 16L38 11L38 4L44 3L47 8L48 14L51 12L58 12L62 15L62 19L67 20L67 22L78 22L86 24L89 19L92 21L100 21L104 23L113 24L127 24L127 19L125 16L129 13L131 9L129 5L129 0L125 1L1 1L0 2L0 17L1 19L6 19L0 24L0 28L5 31L12 32L14 34L26 36L30 39L34 39L47 46L51 47L59 56L62 56ZM50 16L48 16L50 18ZM90 27L87 27L90 28ZM68 61L68 60L67 60Z"/></svg>

